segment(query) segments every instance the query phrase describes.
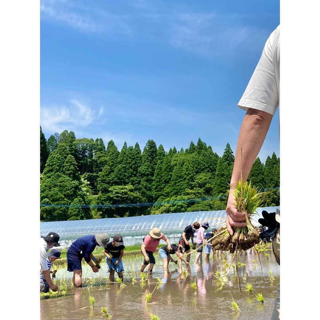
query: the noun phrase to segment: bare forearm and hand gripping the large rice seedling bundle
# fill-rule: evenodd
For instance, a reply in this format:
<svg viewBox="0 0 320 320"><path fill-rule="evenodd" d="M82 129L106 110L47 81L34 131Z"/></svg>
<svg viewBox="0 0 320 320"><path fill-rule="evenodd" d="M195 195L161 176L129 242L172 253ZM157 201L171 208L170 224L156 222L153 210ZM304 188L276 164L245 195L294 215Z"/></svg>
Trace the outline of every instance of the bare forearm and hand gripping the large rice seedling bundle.
<svg viewBox="0 0 320 320"><path fill-rule="evenodd" d="M252 164L261 149L263 141L266 138L272 115L249 108L242 121L238 142L236 147L235 163L233 166L232 177L230 181L230 193L227 203L227 228L233 235L232 227L243 228L246 226L245 216L243 212L238 212L235 207L235 198L233 196L233 188L240 180L241 173L241 147L242 147L242 178L246 180L249 176Z"/></svg>

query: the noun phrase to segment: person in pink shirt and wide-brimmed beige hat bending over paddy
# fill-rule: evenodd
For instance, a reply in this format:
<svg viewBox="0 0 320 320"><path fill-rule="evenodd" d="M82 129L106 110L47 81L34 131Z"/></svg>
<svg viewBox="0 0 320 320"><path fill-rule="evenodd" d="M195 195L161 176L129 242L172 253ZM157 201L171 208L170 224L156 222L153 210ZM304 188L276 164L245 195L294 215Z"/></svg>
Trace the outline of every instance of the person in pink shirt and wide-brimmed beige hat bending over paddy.
<svg viewBox="0 0 320 320"><path fill-rule="evenodd" d="M159 228L151 229L149 234L143 238L143 244L141 244L141 252L144 256L144 260L141 264L140 272L143 272L143 270L149 265L148 273L152 273L153 266L156 263L153 254L155 253L161 239L168 244L167 248L168 250L170 250L170 240L163 233L161 233Z"/></svg>

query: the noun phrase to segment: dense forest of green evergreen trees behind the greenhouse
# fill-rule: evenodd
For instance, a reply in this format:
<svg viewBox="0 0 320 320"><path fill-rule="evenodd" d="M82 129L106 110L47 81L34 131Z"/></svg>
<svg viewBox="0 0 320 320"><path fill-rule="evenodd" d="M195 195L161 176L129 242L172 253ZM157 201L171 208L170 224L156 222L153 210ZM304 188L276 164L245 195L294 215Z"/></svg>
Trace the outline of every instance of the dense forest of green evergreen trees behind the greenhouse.
<svg viewBox="0 0 320 320"><path fill-rule="evenodd" d="M118 150L112 140L76 139L67 130L48 140L40 127L40 219L79 220L169 212L224 210L234 154L227 143L220 157L199 138L195 145L166 152L148 140ZM257 158L249 180L270 189L265 206L280 204L280 158ZM201 200L199 200L201 199ZM44 204L60 206L43 206ZM115 204L144 204L120 206ZM70 206L71 205L71 206ZM80 207L86 205L87 207ZM108 205L108 207L91 207Z"/></svg>

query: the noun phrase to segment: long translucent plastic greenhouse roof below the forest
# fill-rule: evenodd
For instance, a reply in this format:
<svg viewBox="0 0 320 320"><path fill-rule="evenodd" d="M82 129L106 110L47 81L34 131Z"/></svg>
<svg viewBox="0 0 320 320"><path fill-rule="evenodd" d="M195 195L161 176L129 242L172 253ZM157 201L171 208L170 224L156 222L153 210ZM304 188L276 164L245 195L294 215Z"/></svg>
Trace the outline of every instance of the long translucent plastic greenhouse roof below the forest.
<svg viewBox="0 0 320 320"><path fill-rule="evenodd" d="M254 216L252 223L259 226L258 219L262 217L261 212L275 212L276 207L263 207L257 210L258 216ZM157 227L165 233L179 233L183 229L195 222L200 223L209 220L210 228L220 228L226 221L226 211L196 211L196 212L177 212L156 215L146 215L127 218L104 218L90 220L71 220L71 221L50 221L40 223L40 234L47 235L49 232L56 232L60 236L61 244L65 240L75 240L80 236L107 232L110 236L121 233L125 236L145 235L150 229Z"/></svg>

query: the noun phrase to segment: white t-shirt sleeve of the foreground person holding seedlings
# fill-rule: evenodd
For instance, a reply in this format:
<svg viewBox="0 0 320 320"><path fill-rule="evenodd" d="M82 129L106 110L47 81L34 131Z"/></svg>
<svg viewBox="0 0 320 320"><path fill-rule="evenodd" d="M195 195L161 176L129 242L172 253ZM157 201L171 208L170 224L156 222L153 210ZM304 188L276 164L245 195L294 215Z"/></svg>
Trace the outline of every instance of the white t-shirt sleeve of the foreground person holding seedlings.
<svg viewBox="0 0 320 320"><path fill-rule="evenodd" d="M238 107L276 112L280 98L280 26L269 36Z"/></svg>

